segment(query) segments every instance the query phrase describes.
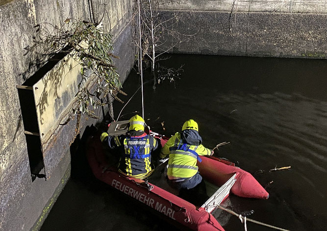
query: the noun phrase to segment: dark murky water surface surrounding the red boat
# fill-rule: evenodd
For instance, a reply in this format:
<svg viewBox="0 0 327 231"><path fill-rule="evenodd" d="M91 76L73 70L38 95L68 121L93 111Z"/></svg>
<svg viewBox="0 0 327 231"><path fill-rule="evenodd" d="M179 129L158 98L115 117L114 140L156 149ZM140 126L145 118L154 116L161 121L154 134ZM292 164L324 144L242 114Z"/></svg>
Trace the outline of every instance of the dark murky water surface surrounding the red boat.
<svg viewBox="0 0 327 231"><path fill-rule="evenodd" d="M268 200L231 195L224 206L292 231L327 230L327 61L173 55L162 62L181 64L184 73L175 83L155 90L153 82L144 85L152 130L168 136L195 119L206 147L230 142L218 155L252 173L270 193ZM127 101L139 86L132 72L123 87L128 96L121 98ZM115 104L116 117L122 107ZM134 111L142 115L140 91L121 119ZM72 178L42 230L175 230L97 181L85 160L75 159ZM285 166L291 169L269 172ZM214 215L226 231L244 230L237 217L221 210ZM248 222L248 231L266 230Z"/></svg>

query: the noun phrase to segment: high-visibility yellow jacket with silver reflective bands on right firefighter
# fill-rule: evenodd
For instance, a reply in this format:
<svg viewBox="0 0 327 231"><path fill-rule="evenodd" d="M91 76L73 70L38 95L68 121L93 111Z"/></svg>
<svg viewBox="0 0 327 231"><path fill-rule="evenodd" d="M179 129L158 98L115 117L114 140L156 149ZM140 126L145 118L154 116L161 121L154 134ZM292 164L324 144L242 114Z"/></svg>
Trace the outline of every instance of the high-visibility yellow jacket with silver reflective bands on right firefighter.
<svg viewBox="0 0 327 231"><path fill-rule="evenodd" d="M201 140L199 145L188 144L185 140L181 139L181 134L177 132L163 146L160 157L165 158L169 155L167 172L169 179L194 176L199 169L197 166L197 160L201 161L199 156L211 154L211 150L201 144L202 139L199 133L195 130L193 131Z"/></svg>

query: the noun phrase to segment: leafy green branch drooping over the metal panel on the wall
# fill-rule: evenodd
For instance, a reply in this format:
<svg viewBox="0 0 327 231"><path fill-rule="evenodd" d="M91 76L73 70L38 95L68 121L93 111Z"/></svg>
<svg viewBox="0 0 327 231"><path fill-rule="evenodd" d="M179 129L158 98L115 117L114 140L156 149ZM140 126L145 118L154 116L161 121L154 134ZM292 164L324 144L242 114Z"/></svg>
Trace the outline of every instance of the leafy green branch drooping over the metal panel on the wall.
<svg viewBox="0 0 327 231"><path fill-rule="evenodd" d="M40 25L35 27L39 30ZM69 54L81 65L74 115L80 112L98 118L95 110L107 103L108 94L123 102L117 97L118 93L126 93L120 89L122 85L113 61L113 58L119 57L112 53L112 35L109 32L100 25L73 19L66 19L60 28L48 26L40 31L37 43L46 47L47 54L44 55Z"/></svg>

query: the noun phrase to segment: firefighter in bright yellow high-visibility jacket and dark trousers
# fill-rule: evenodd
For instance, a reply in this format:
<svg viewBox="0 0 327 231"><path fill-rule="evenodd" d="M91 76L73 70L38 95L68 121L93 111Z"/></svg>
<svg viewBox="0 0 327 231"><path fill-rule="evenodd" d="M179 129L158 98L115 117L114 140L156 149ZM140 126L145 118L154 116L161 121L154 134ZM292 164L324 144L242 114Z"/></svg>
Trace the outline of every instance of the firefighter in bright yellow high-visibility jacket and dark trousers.
<svg viewBox="0 0 327 231"><path fill-rule="evenodd" d="M202 145L198 123L193 119L187 120L182 126L182 132L177 132L163 146L160 157L169 155L167 176L171 185L180 189L181 198L196 204L201 200L201 194L206 197L197 161L201 162L200 156L212 154L211 149ZM201 202L198 204L201 205Z"/></svg>

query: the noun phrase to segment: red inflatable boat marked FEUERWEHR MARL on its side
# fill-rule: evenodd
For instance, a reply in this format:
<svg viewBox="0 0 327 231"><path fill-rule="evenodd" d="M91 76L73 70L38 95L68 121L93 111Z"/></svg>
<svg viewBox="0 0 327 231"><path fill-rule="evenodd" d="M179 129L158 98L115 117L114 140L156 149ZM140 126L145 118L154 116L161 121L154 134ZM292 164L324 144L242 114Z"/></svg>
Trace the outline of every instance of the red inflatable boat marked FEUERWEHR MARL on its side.
<svg viewBox="0 0 327 231"><path fill-rule="evenodd" d="M109 126L109 135L125 134L128 121L113 122ZM164 145L166 137L152 133ZM171 188L162 173L167 162L156 166L148 180L128 178L117 170L114 155L101 144L100 134L89 142L87 159L94 175L113 188L125 193L128 197L138 200L148 206L153 212L169 219L180 229L197 231L224 231L224 228L210 213L223 202L231 191L240 197L268 199L269 194L246 171L239 169L230 162L216 157L201 156L198 162L199 172L208 185L219 186L218 190L210 192L210 198L201 207L179 198L178 192ZM207 190L208 191L208 190ZM209 190L210 191L210 190ZM208 192L209 194L209 192Z"/></svg>

